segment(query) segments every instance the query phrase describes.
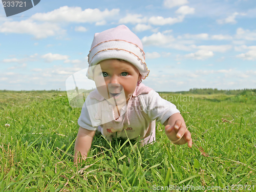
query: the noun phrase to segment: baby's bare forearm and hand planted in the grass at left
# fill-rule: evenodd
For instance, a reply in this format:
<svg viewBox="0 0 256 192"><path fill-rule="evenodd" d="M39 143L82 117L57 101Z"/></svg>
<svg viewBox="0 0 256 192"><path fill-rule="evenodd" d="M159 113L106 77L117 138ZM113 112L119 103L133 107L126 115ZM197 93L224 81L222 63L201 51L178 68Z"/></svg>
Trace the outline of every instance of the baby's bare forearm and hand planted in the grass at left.
<svg viewBox="0 0 256 192"><path fill-rule="evenodd" d="M76 142L75 142L75 154L74 154L75 163L77 163L78 152L80 152L82 159L85 160L87 158L87 153L91 148L95 132L96 131L83 129L81 126L79 127L79 131L78 131ZM78 158L78 162L80 162L80 158Z"/></svg>

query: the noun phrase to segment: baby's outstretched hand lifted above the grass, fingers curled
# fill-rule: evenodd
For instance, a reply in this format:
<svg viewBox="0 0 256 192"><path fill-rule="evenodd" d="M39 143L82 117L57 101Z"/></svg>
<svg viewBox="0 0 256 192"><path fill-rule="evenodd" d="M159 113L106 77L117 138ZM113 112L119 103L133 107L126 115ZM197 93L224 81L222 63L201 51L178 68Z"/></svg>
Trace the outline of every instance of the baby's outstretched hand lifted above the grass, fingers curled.
<svg viewBox="0 0 256 192"><path fill-rule="evenodd" d="M175 144L182 145L187 143L190 148L192 147L191 134L180 119L176 120L173 125L167 124L165 126L165 134Z"/></svg>

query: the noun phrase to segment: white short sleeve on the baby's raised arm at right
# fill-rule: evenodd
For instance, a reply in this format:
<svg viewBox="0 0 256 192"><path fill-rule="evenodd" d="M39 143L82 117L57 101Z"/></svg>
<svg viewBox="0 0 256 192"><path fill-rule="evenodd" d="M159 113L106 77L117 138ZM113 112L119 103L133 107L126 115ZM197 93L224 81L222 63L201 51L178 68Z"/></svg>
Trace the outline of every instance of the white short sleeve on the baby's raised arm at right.
<svg viewBox="0 0 256 192"><path fill-rule="evenodd" d="M161 98L154 90L148 94L138 96L143 111L152 120L160 121L163 124L170 116L180 113L176 105Z"/></svg>

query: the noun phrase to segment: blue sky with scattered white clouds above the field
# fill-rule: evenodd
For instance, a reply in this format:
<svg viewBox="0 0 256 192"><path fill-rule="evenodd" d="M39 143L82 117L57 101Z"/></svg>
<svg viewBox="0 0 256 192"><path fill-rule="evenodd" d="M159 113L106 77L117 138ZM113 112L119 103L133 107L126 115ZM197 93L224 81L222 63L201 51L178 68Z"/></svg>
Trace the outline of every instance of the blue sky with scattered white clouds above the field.
<svg viewBox="0 0 256 192"><path fill-rule="evenodd" d="M124 24L142 41L155 91L256 88L255 0L49 1L0 8L0 90L66 90L94 33Z"/></svg>

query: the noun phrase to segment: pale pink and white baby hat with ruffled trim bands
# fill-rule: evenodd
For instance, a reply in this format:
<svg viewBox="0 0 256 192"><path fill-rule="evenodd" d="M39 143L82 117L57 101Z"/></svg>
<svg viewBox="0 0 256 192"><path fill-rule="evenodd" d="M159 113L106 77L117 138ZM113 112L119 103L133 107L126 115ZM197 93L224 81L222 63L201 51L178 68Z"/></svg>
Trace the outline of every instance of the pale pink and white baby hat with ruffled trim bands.
<svg viewBox="0 0 256 192"><path fill-rule="evenodd" d="M86 76L93 79L92 66L105 59L122 59L132 63L145 79L150 70L145 63L142 42L125 25L95 33L91 50L88 55L89 69Z"/></svg>

